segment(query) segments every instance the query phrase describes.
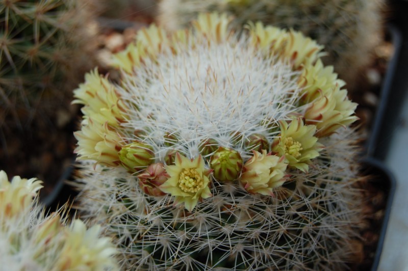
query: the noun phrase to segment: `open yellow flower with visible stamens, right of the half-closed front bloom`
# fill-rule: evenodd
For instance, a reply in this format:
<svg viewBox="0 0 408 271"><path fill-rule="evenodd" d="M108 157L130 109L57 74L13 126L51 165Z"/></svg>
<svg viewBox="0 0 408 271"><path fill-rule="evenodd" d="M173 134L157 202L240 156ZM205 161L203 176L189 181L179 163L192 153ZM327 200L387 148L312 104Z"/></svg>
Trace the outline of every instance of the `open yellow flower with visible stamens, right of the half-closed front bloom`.
<svg viewBox="0 0 408 271"><path fill-rule="evenodd" d="M303 172L309 170L311 159L319 156L319 149L323 147L313 135L315 125L303 125L303 121L293 119L290 124L280 121L281 137L272 143L272 152L285 156L290 167L295 167Z"/></svg>

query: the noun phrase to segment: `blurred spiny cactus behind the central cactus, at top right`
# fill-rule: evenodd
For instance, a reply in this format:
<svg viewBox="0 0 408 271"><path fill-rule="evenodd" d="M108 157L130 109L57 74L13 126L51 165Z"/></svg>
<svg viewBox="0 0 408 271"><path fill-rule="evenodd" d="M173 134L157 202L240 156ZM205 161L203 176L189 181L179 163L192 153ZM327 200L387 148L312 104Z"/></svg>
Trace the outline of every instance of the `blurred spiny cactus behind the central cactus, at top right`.
<svg viewBox="0 0 408 271"><path fill-rule="evenodd" d="M354 89L361 69L370 64L374 46L382 35L383 0L163 0L159 22L168 30L187 26L199 12L234 15L234 27L260 20L279 28L302 32L324 45L325 65Z"/></svg>

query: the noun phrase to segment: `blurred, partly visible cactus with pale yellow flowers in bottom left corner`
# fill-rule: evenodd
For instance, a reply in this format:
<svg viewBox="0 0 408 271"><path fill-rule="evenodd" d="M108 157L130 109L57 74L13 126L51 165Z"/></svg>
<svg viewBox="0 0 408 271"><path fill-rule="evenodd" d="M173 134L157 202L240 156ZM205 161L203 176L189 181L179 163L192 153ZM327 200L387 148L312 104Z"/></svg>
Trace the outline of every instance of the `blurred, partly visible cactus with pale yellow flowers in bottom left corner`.
<svg viewBox="0 0 408 271"><path fill-rule="evenodd" d="M41 181L0 171L0 262L2 270L117 269L114 246L81 220L68 224L64 213L44 215L38 203ZM61 209L64 211L66 209Z"/></svg>

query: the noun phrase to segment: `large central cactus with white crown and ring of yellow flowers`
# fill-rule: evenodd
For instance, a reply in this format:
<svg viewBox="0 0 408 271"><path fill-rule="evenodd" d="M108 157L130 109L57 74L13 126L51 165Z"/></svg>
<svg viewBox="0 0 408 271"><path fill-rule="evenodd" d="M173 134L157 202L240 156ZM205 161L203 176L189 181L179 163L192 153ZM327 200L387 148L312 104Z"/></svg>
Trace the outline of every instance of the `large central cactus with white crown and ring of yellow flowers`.
<svg viewBox="0 0 408 271"><path fill-rule="evenodd" d="M93 71L74 91L84 218L123 269L341 269L361 219L356 104L312 39L229 23L151 25L115 55L119 84Z"/></svg>

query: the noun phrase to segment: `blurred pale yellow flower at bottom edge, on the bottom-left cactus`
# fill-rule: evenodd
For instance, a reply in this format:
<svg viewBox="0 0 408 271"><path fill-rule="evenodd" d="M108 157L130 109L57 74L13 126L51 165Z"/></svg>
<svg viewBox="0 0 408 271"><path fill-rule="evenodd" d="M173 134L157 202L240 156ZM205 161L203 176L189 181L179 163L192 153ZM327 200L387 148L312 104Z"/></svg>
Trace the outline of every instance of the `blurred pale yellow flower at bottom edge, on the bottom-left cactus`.
<svg viewBox="0 0 408 271"><path fill-rule="evenodd" d="M111 267L118 270L112 257L116 249L108 237L99 237L100 226L87 230L81 220L74 220L66 230L66 238L61 248L56 270L104 270Z"/></svg>

